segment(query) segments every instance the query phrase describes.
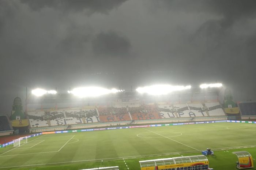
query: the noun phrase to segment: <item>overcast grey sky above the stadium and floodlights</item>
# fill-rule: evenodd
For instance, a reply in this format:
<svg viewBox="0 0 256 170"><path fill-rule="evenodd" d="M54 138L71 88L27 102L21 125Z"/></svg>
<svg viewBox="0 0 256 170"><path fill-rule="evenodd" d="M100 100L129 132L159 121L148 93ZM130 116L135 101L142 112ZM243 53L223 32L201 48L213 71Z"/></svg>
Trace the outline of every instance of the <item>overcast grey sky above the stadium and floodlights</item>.
<svg viewBox="0 0 256 170"><path fill-rule="evenodd" d="M0 0L0 57L1 113L26 86L218 81L256 99L256 1Z"/></svg>

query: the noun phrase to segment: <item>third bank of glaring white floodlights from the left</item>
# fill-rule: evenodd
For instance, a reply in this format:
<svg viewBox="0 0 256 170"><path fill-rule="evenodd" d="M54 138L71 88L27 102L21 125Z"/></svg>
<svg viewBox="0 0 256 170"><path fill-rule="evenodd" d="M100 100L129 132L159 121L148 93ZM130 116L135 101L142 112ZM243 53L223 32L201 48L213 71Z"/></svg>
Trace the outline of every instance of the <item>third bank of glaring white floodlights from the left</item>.
<svg viewBox="0 0 256 170"><path fill-rule="evenodd" d="M153 85L153 86L145 86L145 87L139 87L136 89L139 93L146 93L150 95L164 95L169 94L173 91L181 91L181 90L187 90L190 89L191 86L172 86L169 84L160 84L160 85Z"/></svg>

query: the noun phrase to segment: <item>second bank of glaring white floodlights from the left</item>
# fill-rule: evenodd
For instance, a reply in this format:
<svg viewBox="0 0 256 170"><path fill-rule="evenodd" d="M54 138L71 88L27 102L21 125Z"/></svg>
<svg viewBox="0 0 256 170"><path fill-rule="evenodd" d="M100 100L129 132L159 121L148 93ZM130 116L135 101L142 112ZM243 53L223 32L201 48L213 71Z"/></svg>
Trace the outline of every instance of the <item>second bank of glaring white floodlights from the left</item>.
<svg viewBox="0 0 256 170"><path fill-rule="evenodd" d="M102 87L79 87L74 88L68 93L71 93L77 97L98 97L105 94L123 92L124 90L117 90L116 88L107 89Z"/></svg>

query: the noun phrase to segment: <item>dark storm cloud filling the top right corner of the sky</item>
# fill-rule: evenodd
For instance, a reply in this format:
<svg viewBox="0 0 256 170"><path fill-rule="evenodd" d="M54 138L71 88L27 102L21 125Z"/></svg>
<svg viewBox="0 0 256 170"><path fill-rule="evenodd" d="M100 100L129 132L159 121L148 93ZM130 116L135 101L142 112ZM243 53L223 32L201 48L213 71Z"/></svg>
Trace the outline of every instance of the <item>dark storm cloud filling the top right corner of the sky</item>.
<svg viewBox="0 0 256 170"><path fill-rule="evenodd" d="M217 14L222 17L219 20L222 27L228 27L241 18L255 18L256 14L255 0L160 0L154 3L170 10Z"/></svg>

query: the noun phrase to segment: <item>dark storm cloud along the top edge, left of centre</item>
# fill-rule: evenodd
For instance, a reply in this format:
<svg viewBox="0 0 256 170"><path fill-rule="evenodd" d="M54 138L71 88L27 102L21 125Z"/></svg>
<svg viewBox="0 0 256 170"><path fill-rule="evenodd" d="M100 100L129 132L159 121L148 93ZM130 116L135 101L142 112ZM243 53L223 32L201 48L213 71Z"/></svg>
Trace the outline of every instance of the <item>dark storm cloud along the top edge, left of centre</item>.
<svg viewBox="0 0 256 170"><path fill-rule="evenodd" d="M108 13L126 0L21 0L33 10L49 7L65 12L88 10L89 13Z"/></svg>

